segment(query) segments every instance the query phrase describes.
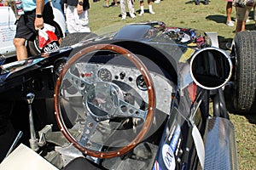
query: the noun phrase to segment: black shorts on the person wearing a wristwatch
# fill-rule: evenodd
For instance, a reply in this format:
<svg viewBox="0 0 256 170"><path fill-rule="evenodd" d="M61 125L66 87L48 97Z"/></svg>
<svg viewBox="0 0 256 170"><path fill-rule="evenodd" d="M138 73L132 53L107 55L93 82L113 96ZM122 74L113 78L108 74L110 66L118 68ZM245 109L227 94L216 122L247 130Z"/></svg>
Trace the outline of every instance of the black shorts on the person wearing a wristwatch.
<svg viewBox="0 0 256 170"><path fill-rule="evenodd" d="M34 22L36 18L36 9L26 12L20 16L20 20L17 20L16 35L17 38L25 38L26 40L32 40L38 35L38 31L35 30ZM44 5L43 12L44 23L53 26L54 14L49 3Z"/></svg>

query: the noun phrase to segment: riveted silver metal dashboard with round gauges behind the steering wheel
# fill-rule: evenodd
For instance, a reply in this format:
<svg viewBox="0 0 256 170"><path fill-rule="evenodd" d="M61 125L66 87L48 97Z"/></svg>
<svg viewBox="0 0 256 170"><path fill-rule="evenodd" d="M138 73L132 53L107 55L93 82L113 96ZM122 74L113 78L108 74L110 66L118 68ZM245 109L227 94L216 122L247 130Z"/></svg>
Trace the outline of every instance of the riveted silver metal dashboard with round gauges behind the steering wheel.
<svg viewBox="0 0 256 170"><path fill-rule="evenodd" d="M76 64L76 68L79 77L86 82L113 82L125 94L139 96L144 101L148 101L146 82L136 67L81 62ZM149 73L154 82L156 108L169 114L172 104L173 84L166 77L150 71Z"/></svg>

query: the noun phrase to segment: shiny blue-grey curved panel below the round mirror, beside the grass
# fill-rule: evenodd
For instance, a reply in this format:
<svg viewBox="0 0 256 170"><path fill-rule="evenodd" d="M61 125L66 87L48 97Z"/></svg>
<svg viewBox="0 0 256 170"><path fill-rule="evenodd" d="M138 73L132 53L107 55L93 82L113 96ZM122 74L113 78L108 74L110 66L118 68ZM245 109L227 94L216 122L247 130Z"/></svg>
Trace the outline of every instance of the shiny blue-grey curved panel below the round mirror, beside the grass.
<svg viewBox="0 0 256 170"><path fill-rule="evenodd" d="M225 118L208 119L204 169L238 169L235 129Z"/></svg>

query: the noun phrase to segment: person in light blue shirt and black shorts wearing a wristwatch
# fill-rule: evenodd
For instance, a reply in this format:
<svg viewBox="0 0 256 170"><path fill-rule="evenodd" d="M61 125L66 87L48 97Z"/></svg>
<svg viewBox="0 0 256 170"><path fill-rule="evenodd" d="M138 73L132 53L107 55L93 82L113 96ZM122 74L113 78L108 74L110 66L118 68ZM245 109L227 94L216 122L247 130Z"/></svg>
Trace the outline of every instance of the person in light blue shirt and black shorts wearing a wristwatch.
<svg viewBox="0 0 256 170"><path fill-rule="evenodd" d="M24 13L17 20L14 45L17 60L26 59L26 40L33 40L44 23L53 26L54 14L48 0L22 0ZM20 12L19 12L20 13Z"/></svg>

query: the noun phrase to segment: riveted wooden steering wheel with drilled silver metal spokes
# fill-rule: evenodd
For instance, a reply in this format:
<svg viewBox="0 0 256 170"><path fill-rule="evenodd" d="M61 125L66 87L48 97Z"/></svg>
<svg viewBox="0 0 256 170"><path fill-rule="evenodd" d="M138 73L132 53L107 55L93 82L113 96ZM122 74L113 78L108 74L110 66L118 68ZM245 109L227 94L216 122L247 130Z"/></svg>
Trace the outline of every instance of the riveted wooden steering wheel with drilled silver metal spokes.
<svg viewBox="0 0 256 170"><path fill-rule="evenodd" d="M118 103L117 107L119 107L120 105L125 105L125 107L127 107L129 111L134 110L134 113L132 113L132 111L130 111L131 113L129 113L130 114L129 116L142 115L142 116L138 116L138 117L144 117L144 119L143 119L144 122L143 122L141 130L139 131L139 133L137 133L137 136L131 140L130 143L125 144L124 147L120 147L117 150L110 150L110 151L109 150L108 151L91 150L87 146L85 147L84 145L86 145L86 144L82 144L81 141L77 141L77 139L75 139L73 137L73 134L69 132L69 130L67 129L67 126L63 120L63 116L61 115L61 97L63 96L63 94L62 94L63 88L62 87L63 87L63 83L64 83L63 81L64 81L65 77L68 77L67 80L69 80L73 84L73 86L76 86L78 91L80 92L80 94L82 94L82 98L84 99L83 105L84 105L84 102L85 103L88 102L87 100L85 100L85 99L87 99L87 97L85 97L85 96L89 93L91 87L95 88L97 85L100 86L102 83L105 83L104 85L108 85L111 89L113 89L113 88L115 89L115 86L117 86L117 85L113 86L109 82L96 82L96 83L93 83L93 85L92 85L89 82L83 81L81 77L76 77L72 73L70 73L71 71L73 71L73 68L77 64L77 62L81 62L84 59L84 57L86 57L88 54L96 53L96 52L102 51L102 50L105 50L105 51L107 50L110 52L121 54L126 59L130 60L131 63L133 63L137 67L138 71L140 71L141 74L143 75L144 82L147 85L147 93L148 93L148 111L144 111L145 113L143 113L143 111L141 111L140 109L133 108L132 105L126 103L123 99L119 99L118 97L114 98L115 102L113 102L113 103ZM115 95L114 92L116 92L116 91L117 90L113 90L112 95ZM143 62L137 58L137 56L135 54L132 54L127 49L119 47L117 45L96 44L96 45L92 45L90 47L82 49L77 54L74 54L73 57L67 61L67 64L63 68L63 71L61 71L61 74L55 84L54 105L55 105L55 118L58 123L58 126L61 129L61 133L63 133L65 135L67 140L71 144L73 144L74 147L79 149L85 155L98 157L98 158L111 158L114 156L121 156L121 155L124 155L125 153L129 152L130 150L132 150L135 146L137 146L137 144L139 144L143 140L143 138L145 137L145 135L148 133L148 131L150 129L151 123L154 118L154 109L155 109L154 83L152 81L152 77L150 76L150 74L148 72L148 69L143 64ZM93 111L91 111L91 112L93 112ZM117 111L115 111L114 114L116 114L116 112ZM114 114L112 114L112 116ZM95 115L95 114L92 113L92 115ZM105 117L105 119L106 119L106 117ZM93 116L91 116L89 121L87 121L85 123L92 124L90 121L94 122L95 127L92 126L92 128L96 129L97 122L100 122L101 120L94 119ZM86 131L90 130L89 128L90 128L90 126L86 127ZM89 138L89 137L91 137L91 135L87 135L87 136L85 135L85 137Z"/></svg>

